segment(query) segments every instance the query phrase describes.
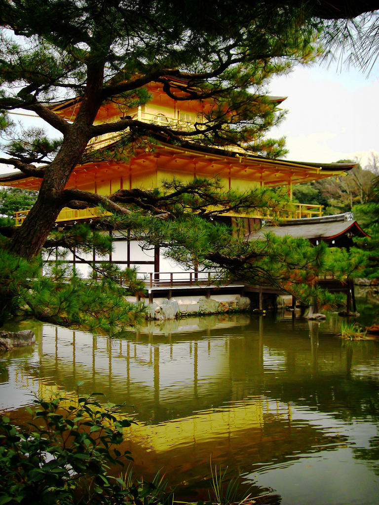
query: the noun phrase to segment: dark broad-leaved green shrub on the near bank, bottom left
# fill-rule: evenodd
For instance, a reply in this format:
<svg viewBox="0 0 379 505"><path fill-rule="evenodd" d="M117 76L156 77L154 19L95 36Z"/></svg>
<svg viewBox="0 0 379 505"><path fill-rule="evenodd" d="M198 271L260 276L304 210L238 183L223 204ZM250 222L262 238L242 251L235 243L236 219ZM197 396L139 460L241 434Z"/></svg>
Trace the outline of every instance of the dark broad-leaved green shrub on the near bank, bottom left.
<svg viewBox="0 0 379 505"><path fill-rule="evenodd" d="M165 503L158 476L148 483L109 475L110 465L132 459L119 448L131 421L95 396L34 400L23 429L0 419L1 505Z"/></svg>

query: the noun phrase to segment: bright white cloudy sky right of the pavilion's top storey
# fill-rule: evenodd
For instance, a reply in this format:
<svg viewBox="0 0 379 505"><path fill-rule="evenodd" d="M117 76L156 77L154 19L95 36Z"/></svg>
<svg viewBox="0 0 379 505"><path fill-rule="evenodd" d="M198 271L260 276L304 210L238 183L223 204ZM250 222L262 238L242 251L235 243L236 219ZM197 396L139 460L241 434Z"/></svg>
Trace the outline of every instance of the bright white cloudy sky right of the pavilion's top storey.
<svg viewBox="0 0 379 505"><path fill-rule="evenodd" d="M379 65L367 76L337 64L296 67L274 78L270 94L287 96L287 119L271 137L287 136L286 159L315 163L361 160L379 154Z"/></svg>

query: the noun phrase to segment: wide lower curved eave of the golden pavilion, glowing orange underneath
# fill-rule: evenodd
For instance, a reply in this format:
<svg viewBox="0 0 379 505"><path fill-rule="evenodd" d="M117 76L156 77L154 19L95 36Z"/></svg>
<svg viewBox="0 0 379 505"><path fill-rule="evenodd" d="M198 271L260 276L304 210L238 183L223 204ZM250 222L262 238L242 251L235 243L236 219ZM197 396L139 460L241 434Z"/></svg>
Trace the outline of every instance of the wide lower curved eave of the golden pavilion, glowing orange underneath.
<svg viewBox="0 0 379 505"><path fill-rule="evenodd" d="M107 148L112 148L108 144ZM161 163L159 163L159 160ZM175 146L161 139L154 150L137 150L128 162L96 161L78 165L66 187L77 187L89 172L96 171L103 180L112 180L130 173L153 172L159 169L192 177L214 177L244 180L246 183L261 183L266 187L285 186L341 175L357 164L315 164L287 160L271 160L262 156L241 155L235 151L186 144ZM27 177L20 171L0 176L0 184L24 189L39 189L41 179Z"/></svg>

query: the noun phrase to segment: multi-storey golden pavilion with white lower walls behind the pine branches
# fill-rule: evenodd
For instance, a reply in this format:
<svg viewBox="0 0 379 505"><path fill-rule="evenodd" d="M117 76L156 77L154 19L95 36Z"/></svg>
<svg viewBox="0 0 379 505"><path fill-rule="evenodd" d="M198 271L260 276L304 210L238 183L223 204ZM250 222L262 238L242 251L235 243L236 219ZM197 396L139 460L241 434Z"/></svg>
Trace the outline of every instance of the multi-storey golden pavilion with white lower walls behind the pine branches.
<svg viewBox="0 0 379 505"><path fill-rule="evenodd" d="M206 100L202 103L189 100L176 102L166 95L159 83L150 83L148 91L151 100L144 106L125 110L120 104L104 105L98 113L96 124L116 122L120 117L130 116L138 121L156 123L162 126L174 125L181 129L194 129L194 124L204 118L211 104ZM280 105L284 98L272 97L272 103ZM78 108L77 100L70 100L54 107L52 110L72 121ZM174 145L167 138L157 137L154 146L137 148L132 157L116 159L119 148L119 137L116 134L106 134L92 141L96 152L104 147L114 153L114 157L98 156L96 161L78 165L72 173L66 188L78 188L101 195L110 195L119 189L159 187L163 180L173 178L190 181L195 177L219 177L225 189L239 188L244 191L253 187L286 186L292 199L292 186L299 182L313 181L341 175L349 170L354 163L318 164L297 163L284 160L270 160L262 156L244 154L240 150L207 148L200 143L186 144L185 147ZM119 157L120 158L120 157ZM38 189L40 180L13 171L0 178L0 183L23 189ZM287 217L301 218L321 215L321 206L294 204ZM66 224L85 220L94 220L96 210L63 209L58 217L59 222ZM230 222L235 214L225 216ZM247 233L260 227L259 214L244 215L244 227ZM24 215L19 215L21 224ZM159 250L144 251L135 240L128 240L127 234L112 232L114 250L111 257L106 258L123 266L138 266L141 272L172 272L180 269L170 264ZM68 258L70 260L70 258ZM90 261L104 261L104 258L90 258ZM71 258L76 268L86 274L87 265Z"/></svg>

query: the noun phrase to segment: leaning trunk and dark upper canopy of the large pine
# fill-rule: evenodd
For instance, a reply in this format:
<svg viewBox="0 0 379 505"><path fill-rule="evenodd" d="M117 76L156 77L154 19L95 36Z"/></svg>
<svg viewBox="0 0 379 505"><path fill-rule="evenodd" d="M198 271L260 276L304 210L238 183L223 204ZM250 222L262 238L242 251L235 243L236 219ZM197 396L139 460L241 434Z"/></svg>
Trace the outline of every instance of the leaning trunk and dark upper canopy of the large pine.
<svg viewBox="0 0 379 505"><path fill-rule="evenodd" d="M264 96L265 84L295 61L314 58L319 22L297 5L267 5L201 0L178 10L167 0L3 0L0 108L31 111L61 134L52 141L40 131L17 132L8 158L1 159L41 179L36 204L10 250L24 258L41 250L60 210L70 207L65 184L93 137L127 130L130 146L138 137L161 134L178 143L193 137L283 154L282 140L263 138L281 117ZM189 132L127 118L94 124L109 101L124 108L145 103L151 81L179 102L209 100L204 123ZM51 109L64 99L78 100L73 122ZM88 198L83 195L84 203ZM80 201L77 192L74 205Z"/></svg>

